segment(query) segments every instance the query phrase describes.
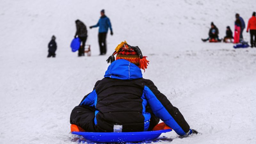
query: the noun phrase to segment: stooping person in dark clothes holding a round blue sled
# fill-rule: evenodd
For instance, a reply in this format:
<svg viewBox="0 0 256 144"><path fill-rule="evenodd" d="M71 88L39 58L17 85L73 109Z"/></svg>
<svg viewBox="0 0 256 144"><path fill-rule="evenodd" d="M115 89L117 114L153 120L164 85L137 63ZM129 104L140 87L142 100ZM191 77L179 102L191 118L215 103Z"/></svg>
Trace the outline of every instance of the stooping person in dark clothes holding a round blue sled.
<svg viewBox="0 0 256 144"><path fill-rule="evenodd" d="M76 38L76 36L78 36L78 38L80 38L82 42L82 47L78 49L78 56L84 56L84 47L87 39L87 29L85 24L80 20L76 20L76 35L74 37Z"/></svg>

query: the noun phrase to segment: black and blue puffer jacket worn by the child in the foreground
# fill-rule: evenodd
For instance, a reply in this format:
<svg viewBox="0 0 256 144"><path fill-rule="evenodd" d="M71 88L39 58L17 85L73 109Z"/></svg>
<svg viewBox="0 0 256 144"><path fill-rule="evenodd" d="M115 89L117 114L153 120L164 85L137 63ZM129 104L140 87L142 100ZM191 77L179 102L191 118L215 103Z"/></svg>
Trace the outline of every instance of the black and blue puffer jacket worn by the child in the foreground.
<svg viewBox="0 0 256 144"><path fill-rule="evenodd" d="M147 106L177 134L189 132L179 109L172 106L152 81L142 78L140 68L128 60L112 62L104 78L79 104L83 105L95 109L94 124L105 132L113 132L116 124L123 125L122 132L147 131L151 117L146 112Z"/></svg>

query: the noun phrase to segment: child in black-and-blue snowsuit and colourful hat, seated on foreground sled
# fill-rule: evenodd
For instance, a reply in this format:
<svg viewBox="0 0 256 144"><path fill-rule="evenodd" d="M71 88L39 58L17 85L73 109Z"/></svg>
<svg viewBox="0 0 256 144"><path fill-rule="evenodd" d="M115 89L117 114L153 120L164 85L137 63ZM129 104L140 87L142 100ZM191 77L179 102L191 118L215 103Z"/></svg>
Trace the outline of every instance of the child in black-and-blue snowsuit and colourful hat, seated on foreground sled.
<svg viewBox="0 0 256 144"><path fill-rule="evenodd" d="M152 131L160 118L180 136L197 133L154 83L142 78L140 69L145 72L149 61L138 46L122 42L107 62L104 78L72 110L70 124L86 132L114 132L115 127L143 132Z"/></svg>

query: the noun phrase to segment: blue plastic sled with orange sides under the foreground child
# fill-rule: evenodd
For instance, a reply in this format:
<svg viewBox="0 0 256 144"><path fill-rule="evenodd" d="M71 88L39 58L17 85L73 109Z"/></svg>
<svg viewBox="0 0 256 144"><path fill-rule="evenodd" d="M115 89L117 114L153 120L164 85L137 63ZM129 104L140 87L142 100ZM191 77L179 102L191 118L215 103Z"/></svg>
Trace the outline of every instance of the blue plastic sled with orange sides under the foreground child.
<svg viewBox="0 0 256 144"><path fill-rule="evenodd" d="M140 142L145 140L155 140L162 133L171 132L172 129L165 123L157 124L152 131L146 132L85 132L75 124L71 124L71 133L82 135L85 140L92 142Z"/></svg>

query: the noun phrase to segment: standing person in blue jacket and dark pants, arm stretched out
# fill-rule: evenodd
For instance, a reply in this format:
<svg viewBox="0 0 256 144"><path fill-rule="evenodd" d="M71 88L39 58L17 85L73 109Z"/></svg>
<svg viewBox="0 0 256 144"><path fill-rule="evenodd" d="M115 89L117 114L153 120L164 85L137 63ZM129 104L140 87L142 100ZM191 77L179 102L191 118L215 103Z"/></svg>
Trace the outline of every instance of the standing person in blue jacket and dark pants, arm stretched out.
<svg viewBox="0 0 256 144"><path fill-rule="evenodd" d="M108 28L110 29L110 35L113 35L112 27L109 18L105 15L105 11L100 11L101 17L98 23L90 28L99 28L99 45L100 45L100 55L105 55L107 52L106 48L106 37L108 33Z"/></svg>

